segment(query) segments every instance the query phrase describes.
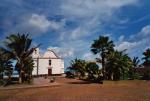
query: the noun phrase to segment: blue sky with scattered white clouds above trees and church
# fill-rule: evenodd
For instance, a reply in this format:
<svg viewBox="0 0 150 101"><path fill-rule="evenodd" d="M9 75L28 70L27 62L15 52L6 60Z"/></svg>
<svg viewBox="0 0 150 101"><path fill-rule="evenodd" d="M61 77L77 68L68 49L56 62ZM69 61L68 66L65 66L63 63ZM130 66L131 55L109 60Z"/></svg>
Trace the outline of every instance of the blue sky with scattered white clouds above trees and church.
<svg viewBox="0 0 150 101"><path fill-rule="evenodd" d="M69 66L93 61L93 40L109 36L115 49L142 58L150 48L150 0L0 0L0 40L25 33L41 53L53 49Z"/></svg>

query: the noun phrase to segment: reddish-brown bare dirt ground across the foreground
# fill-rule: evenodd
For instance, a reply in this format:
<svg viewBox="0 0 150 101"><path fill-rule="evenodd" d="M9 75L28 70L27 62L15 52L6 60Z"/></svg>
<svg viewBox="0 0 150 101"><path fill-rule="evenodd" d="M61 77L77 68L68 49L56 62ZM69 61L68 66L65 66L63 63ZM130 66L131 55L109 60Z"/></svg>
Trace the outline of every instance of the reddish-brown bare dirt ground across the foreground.
<svg viewBox="0 0 150 101"><path fill-rule="evenodd" d="M94 84L56 78L58 87L0 91L0 101L150 101L150 81L104 81Z"/></svg>

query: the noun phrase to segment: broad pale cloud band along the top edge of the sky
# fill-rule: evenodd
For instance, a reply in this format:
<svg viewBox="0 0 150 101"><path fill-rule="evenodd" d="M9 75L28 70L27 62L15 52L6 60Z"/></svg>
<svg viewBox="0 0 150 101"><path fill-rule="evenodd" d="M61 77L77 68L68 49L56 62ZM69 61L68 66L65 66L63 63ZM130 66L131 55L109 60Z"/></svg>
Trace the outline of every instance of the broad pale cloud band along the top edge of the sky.
<svg viewBox="0 0 150 101"><path fill-rule="evenodd" d="M111 15L115 9L135 5L138 0L65 0L61 5L62 13L67 16L91 17Z"/></svg>

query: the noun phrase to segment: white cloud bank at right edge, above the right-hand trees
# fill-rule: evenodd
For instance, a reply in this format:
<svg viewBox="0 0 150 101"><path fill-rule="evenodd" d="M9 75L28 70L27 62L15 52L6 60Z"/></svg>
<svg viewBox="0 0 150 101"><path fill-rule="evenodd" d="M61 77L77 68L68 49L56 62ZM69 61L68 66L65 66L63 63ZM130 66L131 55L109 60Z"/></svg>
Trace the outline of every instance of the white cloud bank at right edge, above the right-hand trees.
<svg viewBox="0 0 150 101"><path fill-rule="evenodd" d="M142 56L145 49L150 48L150 25L144 26L140 32L129 37L130 38L125 41L125 38L120 36L115 49L118 51L127 49L127 53L129 53L130 56Z"/></svg>

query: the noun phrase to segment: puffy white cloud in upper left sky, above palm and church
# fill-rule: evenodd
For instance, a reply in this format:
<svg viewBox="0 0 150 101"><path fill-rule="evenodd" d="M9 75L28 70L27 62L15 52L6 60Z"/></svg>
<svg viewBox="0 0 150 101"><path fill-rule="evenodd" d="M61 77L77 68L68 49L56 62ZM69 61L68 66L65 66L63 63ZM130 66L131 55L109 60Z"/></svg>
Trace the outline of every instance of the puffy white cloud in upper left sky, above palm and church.
<svg viewBox="0 0 150 101"><path fill-rule="evenodd" d="M21 16L13 25L11 22L9 29L5 32L6 35L10 33L28 33L35 36L45 34L50 30L59 31L65 25L65 19L58 22L49 20L45 15L25 14Z"/></svg>

